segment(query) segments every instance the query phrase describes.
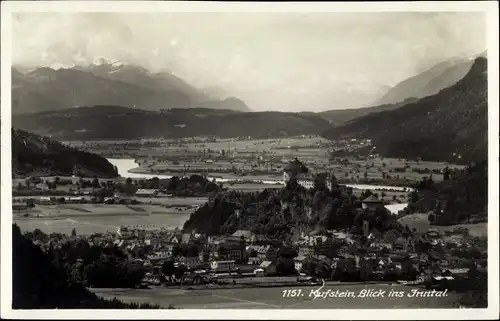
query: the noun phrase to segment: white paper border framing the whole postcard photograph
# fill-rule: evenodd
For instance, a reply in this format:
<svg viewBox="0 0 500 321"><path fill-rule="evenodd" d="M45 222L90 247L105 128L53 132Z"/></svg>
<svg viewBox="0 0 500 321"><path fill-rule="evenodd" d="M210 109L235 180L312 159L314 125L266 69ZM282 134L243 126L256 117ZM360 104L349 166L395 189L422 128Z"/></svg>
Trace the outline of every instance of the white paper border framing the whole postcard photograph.
<svg viewBox="0 0 500 321"><path fill-rule="evenodd" d="M15 12L485 12L488 43L488 308L335 310L12 310L11 14ZM498 275L498 5L496 1L417 2L1 2L1 316L9 319L497 319Z"/></svg>

